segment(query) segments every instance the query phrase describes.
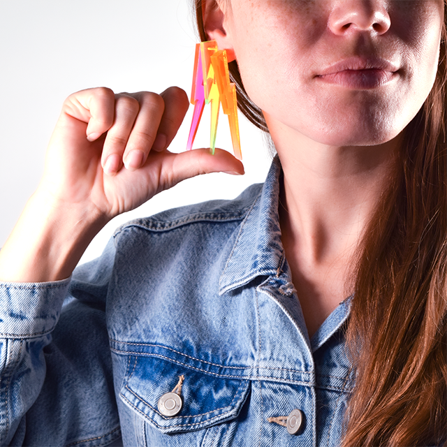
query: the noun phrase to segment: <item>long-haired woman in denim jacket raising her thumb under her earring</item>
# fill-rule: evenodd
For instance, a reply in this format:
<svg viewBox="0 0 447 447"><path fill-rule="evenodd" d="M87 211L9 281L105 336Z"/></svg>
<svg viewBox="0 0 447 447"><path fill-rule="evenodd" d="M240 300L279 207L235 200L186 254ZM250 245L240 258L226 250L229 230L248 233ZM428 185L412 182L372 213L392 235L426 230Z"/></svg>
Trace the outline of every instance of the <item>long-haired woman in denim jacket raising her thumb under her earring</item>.
<svg viewBox="0 0 447 447"><path fill-rule="evenodd" d="M446 445L444 0L196 8L279 158L236 200L119 228L70 281L115 215L243 168L166 151L178 89L66 100L0 253L1 442Z"/></svg>

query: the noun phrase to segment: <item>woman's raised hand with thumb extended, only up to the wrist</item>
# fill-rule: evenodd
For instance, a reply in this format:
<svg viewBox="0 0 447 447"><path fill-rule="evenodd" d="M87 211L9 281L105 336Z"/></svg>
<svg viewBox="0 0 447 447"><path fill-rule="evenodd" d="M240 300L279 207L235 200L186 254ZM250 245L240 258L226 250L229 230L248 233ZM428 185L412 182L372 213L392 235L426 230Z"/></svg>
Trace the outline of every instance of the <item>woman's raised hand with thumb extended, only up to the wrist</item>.
<svg viewBox="0 0 447 447"><path fill-rule="evenodd" d="M172 154L166 149L184 119L189 101L182 89L161 95L114 94L106 88L72 94L47 150L38 192L53 206L82 205L112 219L163 189L198 174L242 174L242 163L217 149Z"/></svg>

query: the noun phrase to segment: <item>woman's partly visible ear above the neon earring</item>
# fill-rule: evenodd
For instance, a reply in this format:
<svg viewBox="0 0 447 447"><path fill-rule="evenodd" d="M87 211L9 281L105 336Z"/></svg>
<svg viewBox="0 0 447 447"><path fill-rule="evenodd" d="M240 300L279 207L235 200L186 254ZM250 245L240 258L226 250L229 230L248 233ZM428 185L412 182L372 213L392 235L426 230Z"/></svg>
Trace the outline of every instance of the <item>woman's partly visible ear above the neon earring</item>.
<svg viewBox="0 0 447 447"><path fill-rule="evenodd" d="M234 61L235 51L228 33L228 22L226 17L225 1L228 0L205 0L202 3L203 27L207 38L216 41L219 50L226 50L228 62ZM228 12L228 14L230 14Z"/></svg>

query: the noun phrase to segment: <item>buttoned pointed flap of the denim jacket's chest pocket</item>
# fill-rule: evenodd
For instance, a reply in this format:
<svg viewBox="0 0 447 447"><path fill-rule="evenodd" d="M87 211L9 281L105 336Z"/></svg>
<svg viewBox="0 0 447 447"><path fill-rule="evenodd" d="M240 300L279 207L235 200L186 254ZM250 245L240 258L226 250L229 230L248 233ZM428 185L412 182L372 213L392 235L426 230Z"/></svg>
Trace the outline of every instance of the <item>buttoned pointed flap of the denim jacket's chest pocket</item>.
<svg viewBox="0 0 447 447"><path fill-rule="evenodd" d="M248 394L247 379L209 374L168 360L138 356L129 361L120 397L157 431L175 434L234 420Z"/></svg>

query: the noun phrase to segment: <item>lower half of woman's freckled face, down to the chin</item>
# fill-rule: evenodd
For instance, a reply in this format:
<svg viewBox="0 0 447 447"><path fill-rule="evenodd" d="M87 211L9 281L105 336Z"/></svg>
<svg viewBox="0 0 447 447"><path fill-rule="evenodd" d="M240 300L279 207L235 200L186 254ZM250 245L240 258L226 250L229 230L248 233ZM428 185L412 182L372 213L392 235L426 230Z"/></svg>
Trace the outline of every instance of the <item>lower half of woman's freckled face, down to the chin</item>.
<svg viewBox="0 0 447 447"><path fill-rule="evenodd" d="M379 144L432 88L444 0L230 0L224 10L223 46L276 129Z"/></svg>

